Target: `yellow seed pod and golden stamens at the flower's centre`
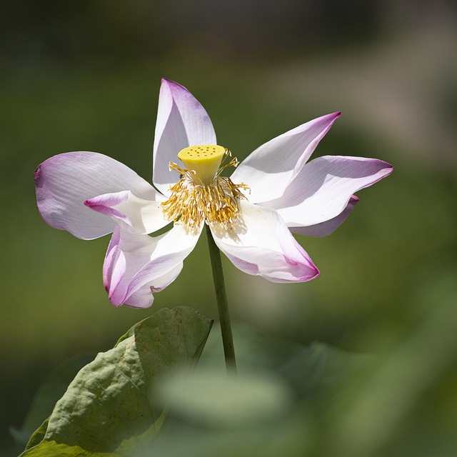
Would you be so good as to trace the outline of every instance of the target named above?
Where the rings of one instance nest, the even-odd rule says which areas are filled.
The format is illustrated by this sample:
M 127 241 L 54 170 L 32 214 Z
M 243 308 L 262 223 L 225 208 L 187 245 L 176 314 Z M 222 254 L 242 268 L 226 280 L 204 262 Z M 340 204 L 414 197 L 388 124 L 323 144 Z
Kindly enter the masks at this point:
M 171 186 L 170 198 L 161 203 L 167 219 L 196 233 L 203 221 L 216 224 L 218 229 L 229 229 L 240 217 L 238 201 L 246 197 L 246 184 L 233 184 L 230 178 L 220 176 L 228 166 L 238 166 L 236 158 L 224 164 L 231 153 L 222 146 L 190 146 L 179 152 L 185 169 L 170 162 L 170 169 L 181 179 Z

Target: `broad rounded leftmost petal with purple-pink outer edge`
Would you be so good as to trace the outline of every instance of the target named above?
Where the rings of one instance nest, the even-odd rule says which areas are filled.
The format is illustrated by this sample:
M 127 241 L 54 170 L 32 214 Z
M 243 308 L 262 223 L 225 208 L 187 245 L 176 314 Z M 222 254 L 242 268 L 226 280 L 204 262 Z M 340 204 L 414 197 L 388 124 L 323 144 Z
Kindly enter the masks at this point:
M 156 200 L 157 193 L 128 166 L 96 152 L 67 152 L 44 161 L 35 171 L 36 201 L 43 219 L 82 239 L 113 231 L 115 221 L 91 211 L 84 201 L 129 189 Z

